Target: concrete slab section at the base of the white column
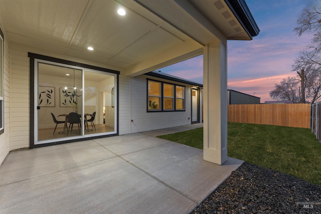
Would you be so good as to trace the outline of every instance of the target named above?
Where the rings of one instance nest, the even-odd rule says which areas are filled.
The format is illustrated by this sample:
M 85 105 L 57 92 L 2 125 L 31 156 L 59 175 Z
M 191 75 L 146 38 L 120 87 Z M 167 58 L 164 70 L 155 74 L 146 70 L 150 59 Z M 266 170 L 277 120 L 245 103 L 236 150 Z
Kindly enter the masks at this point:
M 220 166 L 203 160 L 201 149 L 179 143 L 164 144 L 122 157 L 197 203 L 243 163 L 229 158 Z

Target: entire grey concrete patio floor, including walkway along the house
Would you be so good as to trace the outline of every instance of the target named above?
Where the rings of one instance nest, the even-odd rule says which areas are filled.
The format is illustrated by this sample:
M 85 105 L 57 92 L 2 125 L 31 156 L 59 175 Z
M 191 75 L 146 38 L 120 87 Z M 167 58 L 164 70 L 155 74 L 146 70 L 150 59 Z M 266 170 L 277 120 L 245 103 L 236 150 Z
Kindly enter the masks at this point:
M 0 166 L 0 212 L 188 213 L 243 162 L 204 161 L 201 149 L 154 135 L 12 151 Z

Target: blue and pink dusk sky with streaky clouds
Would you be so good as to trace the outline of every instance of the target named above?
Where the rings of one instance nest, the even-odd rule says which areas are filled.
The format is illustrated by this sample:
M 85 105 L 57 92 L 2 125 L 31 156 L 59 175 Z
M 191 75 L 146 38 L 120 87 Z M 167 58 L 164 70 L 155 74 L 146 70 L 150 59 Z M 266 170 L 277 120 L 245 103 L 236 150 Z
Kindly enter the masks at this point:
M 269 91 L 287 76 L 294 76 L 294 59 L 310 43 L 297 36 L 297 17 L 312 0 L 245 0 L 260 29 L 251 41 L 228 41 L 228 89 L 270 101 Z M 203 55 L 159 69 L 203 83 Z

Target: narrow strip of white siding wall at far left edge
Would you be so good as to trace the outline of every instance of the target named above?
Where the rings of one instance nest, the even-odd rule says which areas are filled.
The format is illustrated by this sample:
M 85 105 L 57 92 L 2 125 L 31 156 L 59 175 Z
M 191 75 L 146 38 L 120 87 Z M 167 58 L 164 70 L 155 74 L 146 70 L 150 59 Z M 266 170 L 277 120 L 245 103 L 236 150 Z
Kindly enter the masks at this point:
M 9 123 L 9 117 L 10 117 L 10 62 L 9 62 L 9 43 L 7 40 L 7 37 L 5 35 L 5 41 L 4 41 L 4 67 L 5 67 L 5 91 L 4 91 L 4 133 L 0 135 L 0 164 L 4 161 L 7 154 L 10 151 L 10 123 Z

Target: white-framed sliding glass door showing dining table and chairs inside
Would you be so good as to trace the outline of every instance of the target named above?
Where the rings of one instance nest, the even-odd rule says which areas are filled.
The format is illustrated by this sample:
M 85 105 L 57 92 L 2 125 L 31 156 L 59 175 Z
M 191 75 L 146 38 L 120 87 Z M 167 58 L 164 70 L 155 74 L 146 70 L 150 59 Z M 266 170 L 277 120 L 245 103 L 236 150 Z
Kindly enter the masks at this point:
M 36 60 L 35 145 L 117 133 L 116 78 Z

